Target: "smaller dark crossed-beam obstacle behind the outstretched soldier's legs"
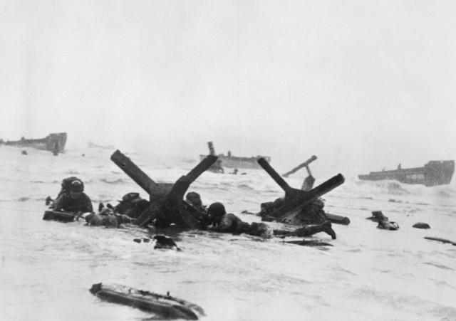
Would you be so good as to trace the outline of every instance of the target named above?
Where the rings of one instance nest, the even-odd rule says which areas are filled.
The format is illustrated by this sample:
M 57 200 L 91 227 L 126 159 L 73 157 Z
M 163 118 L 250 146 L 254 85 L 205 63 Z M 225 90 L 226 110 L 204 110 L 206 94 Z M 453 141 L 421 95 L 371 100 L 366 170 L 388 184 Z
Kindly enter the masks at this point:
M 283 204 L 278 208 L 269 213 L 269 216 L 274 217 L 276 221 L 287 222 L 293 221 L 294 217 L 301 214 L 301 210 L 304 209 L 306 204 L 311 201 L 315 201 L 318 197 L 332 191 L 337 186 L 340 186 L 345 181 L 342 174 L 337 174 L 335 177 L 328 179 L 323 184 L 316 186 L 310 191 L 302 191 L 300 189 L 294 189 L 286 183 L 284 179 L 271 167 L 266 159 L 258 159 L 258 164 L 269 174 L 269 176 L 276 181 L 277 184 L 285 191 L 285 197 Z M 289 174 L 289 173 L 287 173 Z

